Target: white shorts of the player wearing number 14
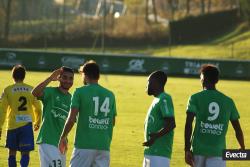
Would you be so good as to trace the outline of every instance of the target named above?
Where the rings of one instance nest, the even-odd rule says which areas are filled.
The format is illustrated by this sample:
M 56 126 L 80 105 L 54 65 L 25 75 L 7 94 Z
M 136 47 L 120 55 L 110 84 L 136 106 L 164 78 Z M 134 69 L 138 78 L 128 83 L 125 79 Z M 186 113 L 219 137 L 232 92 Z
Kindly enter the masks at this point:
M 74 148 L 70 167 L 109 167 L 109 163 L 109 151 Z

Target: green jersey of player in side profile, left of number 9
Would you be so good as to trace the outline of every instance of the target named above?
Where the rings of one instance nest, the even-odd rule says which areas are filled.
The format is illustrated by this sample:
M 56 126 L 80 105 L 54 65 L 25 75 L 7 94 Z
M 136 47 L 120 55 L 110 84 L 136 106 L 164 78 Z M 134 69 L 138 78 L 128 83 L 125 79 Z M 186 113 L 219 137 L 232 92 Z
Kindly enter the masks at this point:
M 163 92 L 154 98 L 145 120 L 145 140 L 150 139 L 149 134 L 158 132 L 164 127 L 164 118 L 174 117 L 174 106 L 172 98 Z M 171 158 L 174 131 L 155 140 L 154 144 L 146 147 L 145 155 L 155 155 Z

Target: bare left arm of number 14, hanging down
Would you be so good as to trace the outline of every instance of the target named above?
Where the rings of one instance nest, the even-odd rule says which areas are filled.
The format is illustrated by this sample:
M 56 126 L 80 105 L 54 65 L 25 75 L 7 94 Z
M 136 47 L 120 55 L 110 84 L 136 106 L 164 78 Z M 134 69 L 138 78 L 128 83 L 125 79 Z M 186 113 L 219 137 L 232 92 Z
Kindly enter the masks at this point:
M 69 113 L 68 119 L 66 120 L 62 135 L 60 137 L 59 145 L 58 145 L 59 150 L 62 154 L 65 154 L 67 150 L 67 136 L 69 132 L 71 131 L 71 129 L 73 128 L 74 123 L 76 122 L 76 117 L 77 117 L 78 112 L 79 112 L 78 109 L 72 108 Z

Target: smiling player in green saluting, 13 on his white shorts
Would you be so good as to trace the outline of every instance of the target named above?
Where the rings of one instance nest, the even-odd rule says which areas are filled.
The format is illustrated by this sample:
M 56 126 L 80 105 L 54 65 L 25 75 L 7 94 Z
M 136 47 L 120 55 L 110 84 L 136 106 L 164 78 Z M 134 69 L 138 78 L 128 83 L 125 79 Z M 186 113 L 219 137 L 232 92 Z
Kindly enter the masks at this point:
M 41 167 L 65 167 L 66 157 L 58 150 L 58 142 L 71 104 L 69 89 L 73 85 L 74 71 L 68 67 L 55 70 L 32 91 L 43 103 L 42 125 L 38 134 Z M 47 87 L 59 81 L 58 87 Z

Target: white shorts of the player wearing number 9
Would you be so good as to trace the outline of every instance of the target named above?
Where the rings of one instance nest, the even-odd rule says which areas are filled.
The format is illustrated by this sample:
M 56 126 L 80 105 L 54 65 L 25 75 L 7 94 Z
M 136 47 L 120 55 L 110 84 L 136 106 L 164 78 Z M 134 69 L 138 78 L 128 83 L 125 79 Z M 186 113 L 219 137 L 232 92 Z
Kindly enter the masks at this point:
M 226 161 L 221 157 L 205 157 L 200 155 L 194 156 L 195 167 L 226 167 Z

